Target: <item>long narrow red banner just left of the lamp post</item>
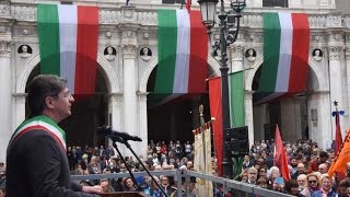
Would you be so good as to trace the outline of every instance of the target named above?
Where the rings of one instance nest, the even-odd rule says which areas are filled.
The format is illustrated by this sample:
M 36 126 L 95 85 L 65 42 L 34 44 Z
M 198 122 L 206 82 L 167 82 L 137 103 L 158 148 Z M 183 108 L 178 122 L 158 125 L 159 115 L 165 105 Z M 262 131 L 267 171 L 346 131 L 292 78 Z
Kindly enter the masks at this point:
M 214 136 L 214 151 L 218 160 L 218 175 L 222 176 L 222 108 L 221 108 L 221 80 L 213 78 L 209 80 L 210 116 L 215 120 L 212 123 Z

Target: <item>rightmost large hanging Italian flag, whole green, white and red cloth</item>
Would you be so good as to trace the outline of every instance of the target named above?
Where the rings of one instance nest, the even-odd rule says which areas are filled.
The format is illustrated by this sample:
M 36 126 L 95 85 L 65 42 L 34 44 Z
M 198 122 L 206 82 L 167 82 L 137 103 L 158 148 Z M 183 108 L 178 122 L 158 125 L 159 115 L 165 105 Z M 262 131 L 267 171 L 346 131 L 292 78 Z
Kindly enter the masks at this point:
M 264 66 L 258 103 L 306 90 L 310 27 L 305 13 L 262 13 Z

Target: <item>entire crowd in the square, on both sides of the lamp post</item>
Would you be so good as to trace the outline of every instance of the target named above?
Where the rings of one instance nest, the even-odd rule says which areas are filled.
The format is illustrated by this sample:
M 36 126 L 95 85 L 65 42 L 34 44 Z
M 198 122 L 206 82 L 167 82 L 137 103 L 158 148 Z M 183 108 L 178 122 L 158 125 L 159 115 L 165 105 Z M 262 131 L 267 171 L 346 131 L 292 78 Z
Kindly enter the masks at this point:
M 330 177 L 327 172 L 334 161 L 332 149 L 327 151 L 318 148 L 312 140 L 299 140 L 296 143 L 284 143 L 291 179 L 283 178 L 280 170 L 273 166 L 273 140 L 256 141 L 249 154 L 242 162 L 242 173 L 236 181 L 254 184 L 262 188 L 302 197 L 350 196 L 350 163 L 345 177 Z M 67 157 L 70 170 L 75 175 L 128 173 L 127 166 L 133 171 L 144 171 L 143 166 L 132 157 L 125 157 L 126 163 L 116 155 L 114 148 L 68 147 Z M 194 170 L 194 148 L 189 141 L 153 142 L 148 144 L 147 158 L 140 157 L 150 171 Z M 3 163 L 0 163 L 0 170 Z M 0 171 L 4 174 L 3 171 Z M 173 176 L 154 176 L 167 195 L 176 193 L 176 179 Z M 135 184 L 137 182 L 137 184 Z M 183 181 L 184 183 L 184 181 Z M 190 190 L 195 196 L 196 178 L 190 178 Z M 104 193 L 141 190 L 151 196 L 162 196 L 161 189 L 150 177 L 137 176 L 136 179 L 102 178 L 79 181 L 81 185 L 101 187 Z M 215 187 L 214 187 L 215 188 Z M 221 193 L 214 193 L 222 196 Z M 219 195 L 220 194 L 220 195 Z

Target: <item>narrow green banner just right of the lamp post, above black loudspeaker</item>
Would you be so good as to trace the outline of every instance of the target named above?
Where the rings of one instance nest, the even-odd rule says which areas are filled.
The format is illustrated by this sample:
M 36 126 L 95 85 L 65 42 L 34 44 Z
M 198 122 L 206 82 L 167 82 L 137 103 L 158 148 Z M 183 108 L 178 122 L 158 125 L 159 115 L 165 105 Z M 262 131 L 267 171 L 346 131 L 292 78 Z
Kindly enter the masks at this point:
M 231 127 L 245 126 L 244 103 L 244 73 L 242 71 L 229 74 L 230 102 L 231 102 Z

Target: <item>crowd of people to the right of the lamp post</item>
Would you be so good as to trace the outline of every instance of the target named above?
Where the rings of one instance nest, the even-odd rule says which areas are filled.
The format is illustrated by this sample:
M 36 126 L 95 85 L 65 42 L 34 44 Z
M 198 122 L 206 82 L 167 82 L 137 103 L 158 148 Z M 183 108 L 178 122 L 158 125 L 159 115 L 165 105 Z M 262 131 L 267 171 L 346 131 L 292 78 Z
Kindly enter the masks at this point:
M 262 188 L 302 197 L 350 196 L 350 163 L 343 177 L 327 172 L 334 162 L 334 149 L 318 148 L 312 140 L 284 143 L 290 179 L 273 166 L 273 140 L 256 141 L 244 157 L 242 173 L 235 178 Z

